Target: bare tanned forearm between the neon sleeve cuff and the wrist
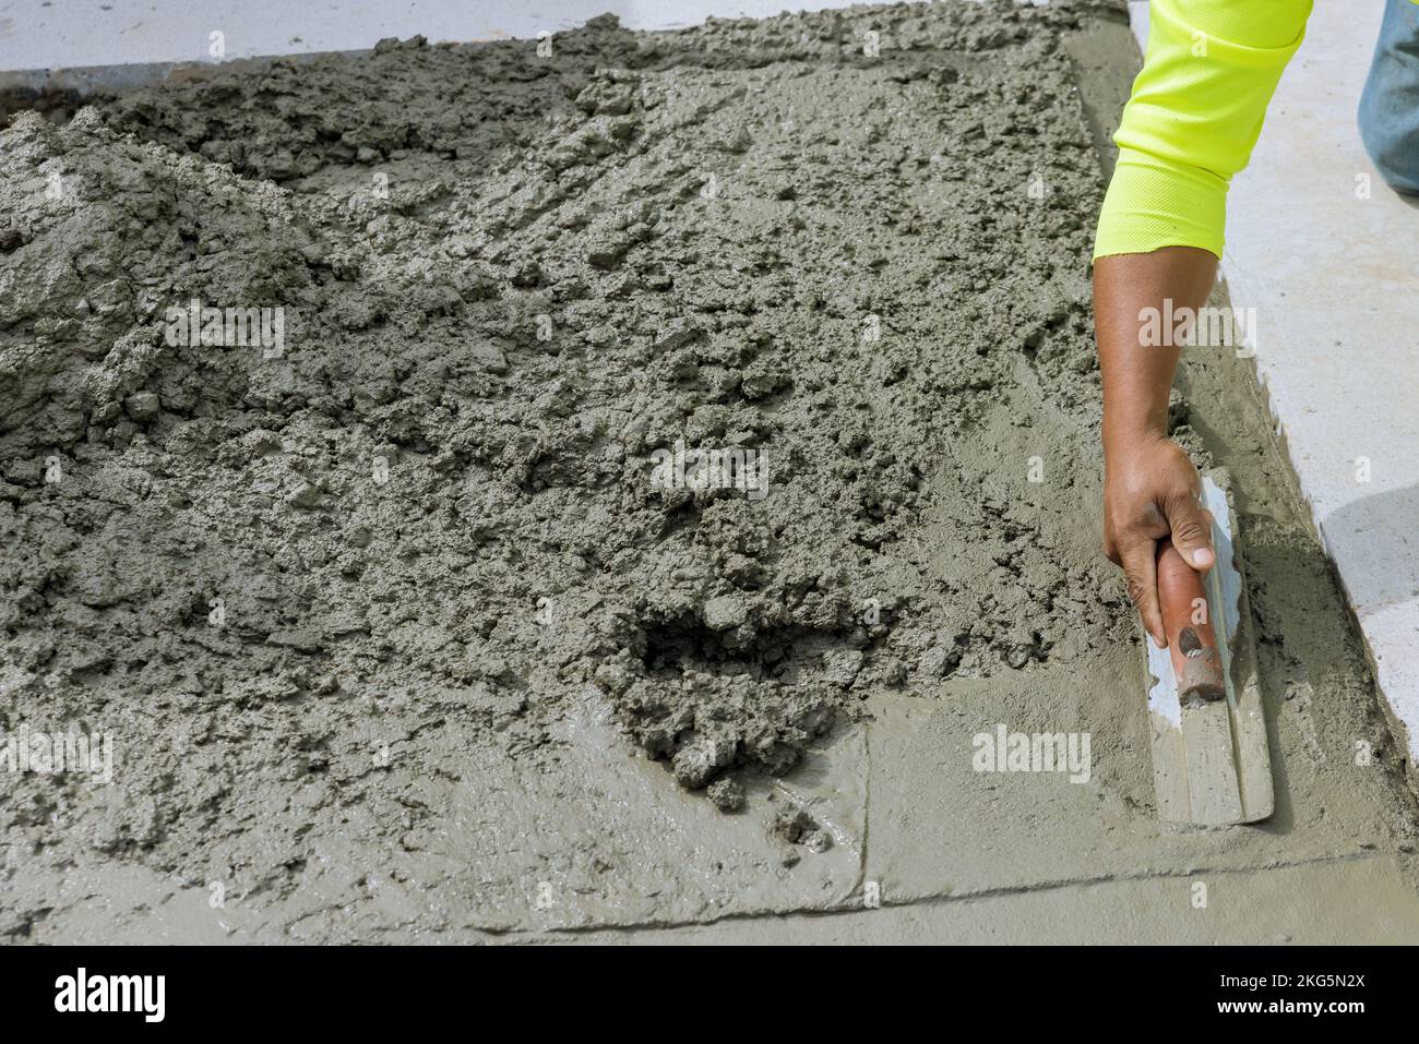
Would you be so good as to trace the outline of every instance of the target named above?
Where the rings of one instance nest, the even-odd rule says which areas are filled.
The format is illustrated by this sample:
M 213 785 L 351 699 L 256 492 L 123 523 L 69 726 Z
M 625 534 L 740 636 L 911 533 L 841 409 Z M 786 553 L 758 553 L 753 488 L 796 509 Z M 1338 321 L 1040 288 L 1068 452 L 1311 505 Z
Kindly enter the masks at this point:
M 1196 247 L 1118 254 L 1094 264 L 1094 329 L 1104 382 L 1104 457 L 1115 458 L 1168 434 L 1168 390 L 1182 345 L 1161 328 L 1142 336 L 1145 316 L 1159 319 L 1202 308 L 1216 278 L 1216 258 Z M 1155 309 L 1149 313 L 1148 309 Z

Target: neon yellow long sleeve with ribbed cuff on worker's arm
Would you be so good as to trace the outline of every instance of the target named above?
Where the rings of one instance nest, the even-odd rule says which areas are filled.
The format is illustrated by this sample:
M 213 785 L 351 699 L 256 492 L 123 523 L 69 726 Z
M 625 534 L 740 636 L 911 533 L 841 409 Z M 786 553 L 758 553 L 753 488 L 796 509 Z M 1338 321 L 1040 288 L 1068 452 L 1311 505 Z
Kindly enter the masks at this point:
M 1247 165 L 1311 0 L 1152 0 L 1148 52 L 1114 135 L 1094 257 L 1222 257 L 1227 182 Z

